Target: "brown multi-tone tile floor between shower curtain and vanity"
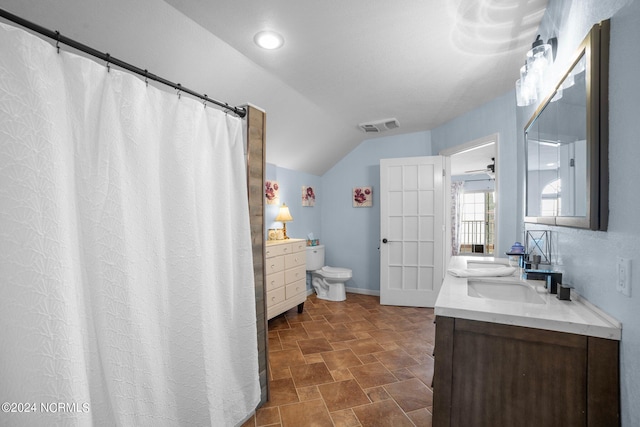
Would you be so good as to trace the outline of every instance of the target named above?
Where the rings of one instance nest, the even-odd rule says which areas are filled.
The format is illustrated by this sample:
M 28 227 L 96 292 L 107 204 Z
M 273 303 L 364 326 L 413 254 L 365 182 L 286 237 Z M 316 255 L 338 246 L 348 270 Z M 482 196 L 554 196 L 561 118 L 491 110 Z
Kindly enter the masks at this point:
M 271 400 L 243 427 L 431 426 L 433 309 L 347 294 L 269 321 Z

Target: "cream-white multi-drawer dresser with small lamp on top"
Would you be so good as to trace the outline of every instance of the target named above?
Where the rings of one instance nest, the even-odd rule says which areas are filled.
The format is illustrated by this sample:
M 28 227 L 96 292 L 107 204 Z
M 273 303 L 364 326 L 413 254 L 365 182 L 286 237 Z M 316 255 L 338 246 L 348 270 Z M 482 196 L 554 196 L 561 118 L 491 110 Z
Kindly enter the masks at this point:
M 307 299 L 307 242 L 304 239 L 269 240 L 265 246 L 267 319 Z

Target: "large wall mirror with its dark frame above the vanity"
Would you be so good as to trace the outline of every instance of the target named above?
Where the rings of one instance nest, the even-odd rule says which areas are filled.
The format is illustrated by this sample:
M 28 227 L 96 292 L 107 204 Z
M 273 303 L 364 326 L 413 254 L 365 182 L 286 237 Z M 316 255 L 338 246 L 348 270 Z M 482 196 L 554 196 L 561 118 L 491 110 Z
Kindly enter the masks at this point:
M 526 222 L 606 230 L 609 21 L 525 127 Z

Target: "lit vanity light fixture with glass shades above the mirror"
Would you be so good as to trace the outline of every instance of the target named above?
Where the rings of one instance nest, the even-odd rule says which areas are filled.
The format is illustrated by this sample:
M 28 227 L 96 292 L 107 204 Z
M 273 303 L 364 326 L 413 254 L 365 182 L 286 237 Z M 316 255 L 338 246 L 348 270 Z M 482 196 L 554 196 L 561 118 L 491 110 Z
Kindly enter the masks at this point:
M 545 73 L 555 59 L 558 39 L 553 37 L 544 43 L 540 35 L 527 52 L 525 64 L 520 68 L 520 78 L 516 81 L 516 103 L 525 107 L 535 103 L 544 86 Z

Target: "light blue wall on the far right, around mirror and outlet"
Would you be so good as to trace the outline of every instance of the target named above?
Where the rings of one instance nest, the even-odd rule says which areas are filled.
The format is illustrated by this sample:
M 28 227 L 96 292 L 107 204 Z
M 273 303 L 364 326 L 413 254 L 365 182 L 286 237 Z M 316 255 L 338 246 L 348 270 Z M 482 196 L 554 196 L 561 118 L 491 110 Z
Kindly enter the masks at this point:
M 607 232 L 547 228 L 553 233 L 563 280 L 622 322 L 622 425 L 631 427 L 640 426 L 640 1 L 551 1 L 541 33 L 543 39 L 552 33 L 558 36 L 564 48 L 559 49 L 556 64 L 564 69 L 591 26 L 609 17 L 609 228 Z M 520 117 L 519 129 L 525 121 Z M 616 292 L 618 256 L 632 259 L 631 298 Z

